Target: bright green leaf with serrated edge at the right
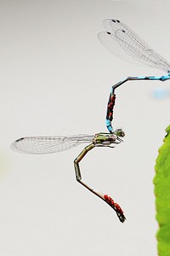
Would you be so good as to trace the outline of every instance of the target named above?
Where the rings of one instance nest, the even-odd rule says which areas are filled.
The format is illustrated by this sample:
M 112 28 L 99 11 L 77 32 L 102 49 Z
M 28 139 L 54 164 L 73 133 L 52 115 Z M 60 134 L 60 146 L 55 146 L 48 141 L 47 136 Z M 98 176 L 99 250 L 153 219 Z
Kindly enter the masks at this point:
M 158 255 L 170 256 L 170 125 L 167 135 L 159 148 L 156 159 L 156 175 L 154 177 L 156 195 L 156 220 Z

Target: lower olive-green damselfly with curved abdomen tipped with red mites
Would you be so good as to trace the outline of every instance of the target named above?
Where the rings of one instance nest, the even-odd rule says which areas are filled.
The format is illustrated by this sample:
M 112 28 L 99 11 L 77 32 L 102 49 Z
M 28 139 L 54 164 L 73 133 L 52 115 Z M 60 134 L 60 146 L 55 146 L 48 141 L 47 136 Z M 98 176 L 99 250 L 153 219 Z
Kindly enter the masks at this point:
M 98 191 L 89 187 L 87 183 L 82 181 L 79 163 L 88 153 L 88 151 L 95 147 L 114 148 L 114 146 L 111 145 L 122 143 L 122 139 L 120 137 L 124 137 L 124 135 L 125 134 L 122 129 L 117 129 L 113 134 L 98 133 L 95 136 L 76 135 L 68 137 L 21 137 L 11 145 L 11 148 L 15 151 L 26 154 L 50 154 L 74 148 L 82 143 L 90 143 L 74 160 L 77 182 L 81 183 L 86 189 L 94 193 L 94 195 L 99 196 L 100 199 L 112 207 L 116 211 L 120 221 L 123 223 L 126 218 L 123 214 L 122 208 L 115 201 L 113 201 L 111 196 L 99 193 Z

